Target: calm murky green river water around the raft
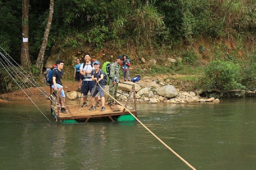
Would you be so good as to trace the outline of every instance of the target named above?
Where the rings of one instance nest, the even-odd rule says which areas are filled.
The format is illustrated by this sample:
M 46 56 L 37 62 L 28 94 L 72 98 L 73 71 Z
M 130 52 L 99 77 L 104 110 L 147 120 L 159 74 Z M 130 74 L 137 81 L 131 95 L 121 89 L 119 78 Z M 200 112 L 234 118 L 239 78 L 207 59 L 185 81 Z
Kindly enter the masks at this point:
M 255 103 L 138 104 L 138 118 L 196 169 L 248 170 Z M 49 123 L 29 101 L 1 103 L 0 115 L 0 169 L 189 169 L 138 122 Z

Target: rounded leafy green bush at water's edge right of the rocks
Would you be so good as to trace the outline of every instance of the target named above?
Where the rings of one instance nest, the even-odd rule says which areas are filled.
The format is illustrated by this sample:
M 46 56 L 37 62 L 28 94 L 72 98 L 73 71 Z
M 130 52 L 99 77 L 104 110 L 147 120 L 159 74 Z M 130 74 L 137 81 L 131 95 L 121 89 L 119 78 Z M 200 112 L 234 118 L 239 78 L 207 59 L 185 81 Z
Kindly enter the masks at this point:
M 205 68 L 205 75 L 199 80 L 200 89 L 228 91 L 245 89 L 241 84 L 240 65 L 230 61 L 216 60 Z

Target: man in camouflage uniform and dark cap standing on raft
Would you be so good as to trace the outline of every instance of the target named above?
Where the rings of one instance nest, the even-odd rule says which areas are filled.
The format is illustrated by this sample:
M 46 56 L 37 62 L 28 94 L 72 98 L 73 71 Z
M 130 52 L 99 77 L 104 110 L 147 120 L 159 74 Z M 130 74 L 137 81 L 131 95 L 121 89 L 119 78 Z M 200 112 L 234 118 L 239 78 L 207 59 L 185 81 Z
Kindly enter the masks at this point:
M 119 83 L 119 73 L 120 73 L 120 63 L 124 60 L 123 56 L 117 56 L 116 62 L 111 64 L 109 73 L 109 94 L 116 99 L 118 83 Z M 114 99 L 108 97 L 108 105 L 112 105 Z

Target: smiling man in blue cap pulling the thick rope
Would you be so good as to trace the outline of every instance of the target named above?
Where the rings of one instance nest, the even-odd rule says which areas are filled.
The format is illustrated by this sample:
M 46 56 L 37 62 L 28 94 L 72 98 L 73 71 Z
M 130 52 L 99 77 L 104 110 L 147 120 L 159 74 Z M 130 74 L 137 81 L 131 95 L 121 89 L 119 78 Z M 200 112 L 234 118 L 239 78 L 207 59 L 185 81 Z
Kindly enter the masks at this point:
M 101 70 L 100 67 L 100 63 L 98 61 L 95 61 L 93 63 L 93 67 L 95 68 L 95 70 L 92 70 L 92 81 L 98 81 L 95 82 L 95 85 L 93 86 L 92 92 L 90 94 L 90 96 L 95 97 L 95 95 L 99 92 L 100 93 L 100 97 L 101 97 L 101 102 L 102 102 L 102 107 L 100 111 L 105 111 L 105 97 L 104 97 L 104 92 L 103 90 L 100 88 L 100 86 L 104 89 L 105 88 L 105 82 L 103 80 L 104 77 L 104 72 L 103 70 Z M 100 85 L 99 85 L 100 84 Z M 94 100 L 91 100 L 92 102 L 92 107 L 89 110 L 95 110 L 96 107 L 94 106 Z

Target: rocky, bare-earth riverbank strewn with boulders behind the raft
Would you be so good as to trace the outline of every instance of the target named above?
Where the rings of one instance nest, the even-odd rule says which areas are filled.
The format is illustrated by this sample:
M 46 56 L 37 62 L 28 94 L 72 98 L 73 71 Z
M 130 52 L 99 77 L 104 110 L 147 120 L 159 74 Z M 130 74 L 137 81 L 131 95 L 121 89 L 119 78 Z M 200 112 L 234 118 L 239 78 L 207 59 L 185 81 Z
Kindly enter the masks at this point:
M 171 76 L 173 78 L 171 78 Z M 177 77 L 184 77 L 184 75 L 165 75 L 154 77 L 142 77 L 140 81 L 136 83 L 126 82 L 135 85 L 136 101 L 142 103 L 197 103 L 197 102 L 211 102 L 219 103 L 219 99 L 204 98 L 199 95 L 198 92 L 187 91 L 188 85 L 186 82 L 175 79 Z M 122 81 L 122 80 L 121 80 Z M 179 84 L 180 86 L 176 86 Z M 63 81 L 64 91 L 66 93 L 66 100 L 79 100 L 83 98 L 80 92 L 77 92 L 77 84 L 75 81 Z M 45 86 L 40 88 L 41 91 L 50 93 L 50 87 Z M 24 91 L 32 98 L 45 98 L 44 94 L 39 89 L 33 87 L 24 89 Z M 108 92 L 108 86 L 105 86 L 105 90 Z M 130 85 L 119 83 L 117 100 L 126 101 L 127 96 L 131 90 Z M 105 98 L 107 98 L 105 94 Z M 27 95 L 18 90 L 12 93 L 0 94 L 0 98 L 4 100 L 28 100 Z M 134 99 L 131 99 L 133 101 Z M 3 102 L 0 100 L 0 102 Z

